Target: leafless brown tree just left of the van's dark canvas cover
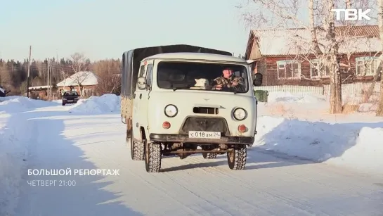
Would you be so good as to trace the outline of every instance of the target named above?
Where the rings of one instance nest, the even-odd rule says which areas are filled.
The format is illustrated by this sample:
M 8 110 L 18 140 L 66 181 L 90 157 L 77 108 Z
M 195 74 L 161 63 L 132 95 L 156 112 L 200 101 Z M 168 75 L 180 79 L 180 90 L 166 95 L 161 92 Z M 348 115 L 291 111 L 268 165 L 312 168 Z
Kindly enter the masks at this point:
M 100 94 L 114 93 L 121 85 L 119 60 L 103 60 L 93 65 L 93 70 L 98 77 L 96 91 Z

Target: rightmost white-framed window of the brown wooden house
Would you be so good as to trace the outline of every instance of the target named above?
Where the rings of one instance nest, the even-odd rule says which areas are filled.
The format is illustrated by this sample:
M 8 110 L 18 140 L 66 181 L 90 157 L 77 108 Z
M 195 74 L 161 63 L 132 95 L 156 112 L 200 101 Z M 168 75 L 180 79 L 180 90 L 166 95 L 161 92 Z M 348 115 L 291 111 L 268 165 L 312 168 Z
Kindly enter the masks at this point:
M 379 57 L 360 57 L 355 58 L 356 75 L 358 76 L 374 76 L 379 68 Z

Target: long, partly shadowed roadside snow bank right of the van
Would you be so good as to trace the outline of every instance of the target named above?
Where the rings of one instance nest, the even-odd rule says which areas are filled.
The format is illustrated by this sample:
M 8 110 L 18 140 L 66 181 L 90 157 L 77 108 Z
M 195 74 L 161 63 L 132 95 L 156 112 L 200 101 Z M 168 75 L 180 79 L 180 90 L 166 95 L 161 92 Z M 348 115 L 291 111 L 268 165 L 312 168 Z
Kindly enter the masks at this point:
M 383 173 L 383 158 L 377 157 L 383 154 L 383 143 L 378 139 L 383 137 L 383 129 L 361 126 L 366 124 L 329 124 L 263 116 L 258 118 L 254 145 L 316 162 L 358 164 L 365 169 L 375 167 Z M 377 126 L 383 127 L 383 123 Z

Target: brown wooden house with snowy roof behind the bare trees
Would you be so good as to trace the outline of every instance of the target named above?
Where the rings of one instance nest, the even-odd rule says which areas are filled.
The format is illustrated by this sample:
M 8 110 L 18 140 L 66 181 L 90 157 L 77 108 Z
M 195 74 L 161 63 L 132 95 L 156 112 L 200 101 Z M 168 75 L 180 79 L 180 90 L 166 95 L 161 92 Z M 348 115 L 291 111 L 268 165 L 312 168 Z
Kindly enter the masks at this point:
M 342 82 L 371 82 L 380 63 L 377 53 L 382 51 L 379 28 L 377 25 L 335 27 L 338 38 L 344 37 L 346 31 L 347 44 L 339 47 Z M 323 38 L 323 35 L 318 37 L 318 42 L 322 43 Z M 320 67 L 316 56 L 306 52 L 310 43 L 310 31 L 304 28 L 252 30 L 245 59 L 255 61 L 252 68 L 254 73 L 264 75 L 263 85 L 330 84 L 329 68 Z

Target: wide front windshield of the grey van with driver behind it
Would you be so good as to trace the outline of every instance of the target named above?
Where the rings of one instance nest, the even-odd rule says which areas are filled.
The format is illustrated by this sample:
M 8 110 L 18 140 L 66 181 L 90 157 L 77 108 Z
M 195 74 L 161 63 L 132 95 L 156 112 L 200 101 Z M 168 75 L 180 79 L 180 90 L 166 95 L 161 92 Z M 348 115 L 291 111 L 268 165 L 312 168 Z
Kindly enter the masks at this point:
M 231 91 L 249 89 L 244 65 L 162 61 L 157 65 L 157 85 L 161 89 Z

